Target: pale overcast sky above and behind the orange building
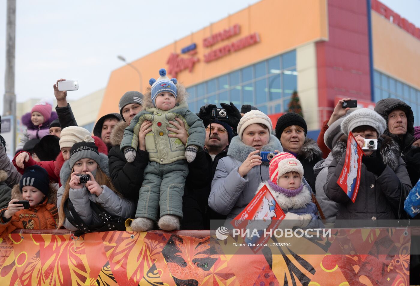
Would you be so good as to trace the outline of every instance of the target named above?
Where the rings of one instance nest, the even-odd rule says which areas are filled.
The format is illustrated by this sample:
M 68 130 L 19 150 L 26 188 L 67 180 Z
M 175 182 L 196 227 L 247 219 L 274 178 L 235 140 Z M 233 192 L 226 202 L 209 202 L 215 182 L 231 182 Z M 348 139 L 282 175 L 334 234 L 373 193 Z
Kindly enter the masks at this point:
M 53 99 L 58 78 L 79 81 L 79 91 L 69 93 L 73 99 L 105 88 L 111 71 L 124 65 L 117 55 L 134 61 L 258 0 L 16 2 L 15 93 L 22 102 Z M 382 2 L 420 27 L 420 0 Z M 6 3 L 0 0 L 1 114 Z

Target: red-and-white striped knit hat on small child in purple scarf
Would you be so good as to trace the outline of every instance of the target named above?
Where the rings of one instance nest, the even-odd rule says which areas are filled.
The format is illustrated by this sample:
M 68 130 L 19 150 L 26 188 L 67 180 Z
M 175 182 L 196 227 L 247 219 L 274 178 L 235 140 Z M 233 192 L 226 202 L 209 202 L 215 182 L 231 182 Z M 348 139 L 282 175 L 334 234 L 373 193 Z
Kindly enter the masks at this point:
M 274 184 L 278 185 L 278 179 L 283 174 L 289 172 L 297 172 L 300 174 L 301 182 L 303 180 L 303 166 L 290 153 L 281 152 L 278 153 L 274 158 L 270 161 L 270 166 L 268 167 L 268 173 L 270 175 L 270 181 Z

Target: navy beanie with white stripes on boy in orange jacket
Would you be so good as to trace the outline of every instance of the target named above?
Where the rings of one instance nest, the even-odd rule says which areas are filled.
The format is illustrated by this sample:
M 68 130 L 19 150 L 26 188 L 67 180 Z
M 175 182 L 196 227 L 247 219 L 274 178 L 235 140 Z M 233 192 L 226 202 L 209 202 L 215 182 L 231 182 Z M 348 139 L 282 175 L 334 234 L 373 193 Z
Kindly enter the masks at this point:
M 36 187 L 44 195 L 48 195 L 50 191 L 50 179 L 48 178 L 47 170 L 38 165 L 29 166 L 25 169 L 21 181 L 19 182 L 19 189 L 25 186 Z

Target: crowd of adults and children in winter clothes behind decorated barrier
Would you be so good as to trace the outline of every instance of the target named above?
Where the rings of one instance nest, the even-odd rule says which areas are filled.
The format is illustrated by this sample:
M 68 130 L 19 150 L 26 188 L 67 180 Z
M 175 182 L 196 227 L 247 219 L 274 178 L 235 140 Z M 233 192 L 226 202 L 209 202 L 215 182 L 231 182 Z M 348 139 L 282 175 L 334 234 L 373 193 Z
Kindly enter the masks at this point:
M 263 184 L 292 227 L 409 218 L 404 201 L 420 177 L 420 127 L 399 99 L 382 99 L 375 110 L 349 110 L 342 107 L 349 99 L 340 100 L 315 142 L 292 112 L 275 130 L 246 105 L 221 103 L 227 117 L 211 104 L 194 114 L 185 87 L 161 69 L 144 95 L 123 94 L 119 113 L 102 116 L 92 136 L 77 125 L 59 81 L 56 112 L 39 102 L 22 117 L 27 129 L 12 161 L 0 144 L 0 236 L 125 230 L 130 222 L 134 231 L 210 229 L 210 220 L 235 218 Z M 354 203 L 337 184 L 349 132 L 360 146 L 378 140 L 362 157 Z M 265 161 L 262 151 L 276 155 Z

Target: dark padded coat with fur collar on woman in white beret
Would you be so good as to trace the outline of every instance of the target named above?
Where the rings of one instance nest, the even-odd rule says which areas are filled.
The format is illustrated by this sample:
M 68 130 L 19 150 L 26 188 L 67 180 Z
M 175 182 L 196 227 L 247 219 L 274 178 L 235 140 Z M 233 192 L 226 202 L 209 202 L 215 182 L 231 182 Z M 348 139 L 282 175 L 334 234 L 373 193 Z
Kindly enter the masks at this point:
M 337 184 L 343 169 L 347 147 L 347 136 L 343 135 L 333 147 L 333 160 L 328 166 L 327 184 L 324 186 L 328 198 L 339 203 L 336 219 L 396 219 L 402 214 L 404 202 L 411 190 L 410 178 L 405 163 L 400 157 L 398 145 L 392 138 L 381 135 L 381 156 L 386 168 L 380 176 L 367 171 L 362 164 L 360 187 L 354 203 Z M 404 203 L 402 203 L 404 205 Z

